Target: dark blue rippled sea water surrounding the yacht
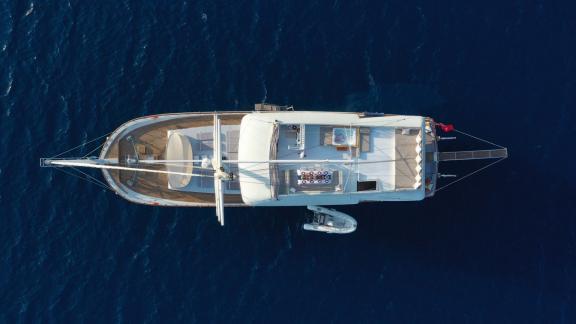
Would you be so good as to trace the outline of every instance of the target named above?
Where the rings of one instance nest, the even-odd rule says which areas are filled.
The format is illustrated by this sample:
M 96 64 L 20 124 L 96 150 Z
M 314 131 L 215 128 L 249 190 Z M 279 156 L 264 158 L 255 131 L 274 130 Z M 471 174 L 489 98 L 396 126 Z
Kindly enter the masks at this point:
M 1 1 L 0 323 L 576 322 L 575 13 Z M 137 116 L 261 101 L 430 115 L 511 158 L 423 202 L 343 207 L 341 237 L 302 231 L 302 208 L 221 228 L 38 167 Z

